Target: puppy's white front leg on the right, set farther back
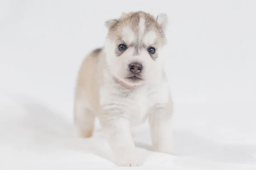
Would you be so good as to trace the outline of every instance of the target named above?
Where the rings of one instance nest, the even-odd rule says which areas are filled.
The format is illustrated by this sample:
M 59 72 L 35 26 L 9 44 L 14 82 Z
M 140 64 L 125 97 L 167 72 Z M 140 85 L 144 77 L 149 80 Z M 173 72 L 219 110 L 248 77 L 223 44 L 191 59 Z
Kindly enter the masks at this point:
M 153 150 L 173 153 L 172 148 L 172 105 L 157 105 L 149 115 Z

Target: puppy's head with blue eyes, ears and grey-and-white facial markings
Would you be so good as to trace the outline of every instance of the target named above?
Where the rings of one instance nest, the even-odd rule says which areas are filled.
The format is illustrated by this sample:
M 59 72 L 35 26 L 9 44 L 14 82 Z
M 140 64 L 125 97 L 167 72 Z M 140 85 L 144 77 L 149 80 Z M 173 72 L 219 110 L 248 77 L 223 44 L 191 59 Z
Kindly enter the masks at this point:
M 144 12 L 123 14 L 120 19 L 107 21 L 105 51 L 113 77 L 130 85 L 141 85 L 160 75 L 166 25 L 165 14 L 154 18 Z

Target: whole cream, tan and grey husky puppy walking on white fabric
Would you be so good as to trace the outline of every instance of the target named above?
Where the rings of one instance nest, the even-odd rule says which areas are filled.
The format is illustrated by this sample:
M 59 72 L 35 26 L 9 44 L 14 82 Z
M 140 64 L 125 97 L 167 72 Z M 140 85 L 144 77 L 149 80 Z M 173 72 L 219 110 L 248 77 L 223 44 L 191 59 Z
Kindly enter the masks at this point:
M 172 99 L 163 61 L 166 14 L 123 13 L 108 20 L 102 48 L 78 73 L 74 117 L 80 136 L 92 136 L 96 116 L 118 166 L 140 166 L 131 128 L 148 118 L 153 150 L 172 153 Z

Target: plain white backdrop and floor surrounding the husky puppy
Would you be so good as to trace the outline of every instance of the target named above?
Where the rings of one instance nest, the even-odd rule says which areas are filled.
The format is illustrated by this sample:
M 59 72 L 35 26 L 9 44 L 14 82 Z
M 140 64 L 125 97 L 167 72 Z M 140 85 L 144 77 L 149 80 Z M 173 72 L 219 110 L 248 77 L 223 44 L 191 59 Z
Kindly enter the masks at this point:
M 177 153 L 146 150 L 148 127 L 138 127 L 140 169 L 255 167 L 255 9 L 254 0 L 1 0 L 1 169 L 116 168 L 100 131 L 75 136 L 73 92 L 84 56 L 104 43 L 105 20 L 138 10 L 169 17 Z

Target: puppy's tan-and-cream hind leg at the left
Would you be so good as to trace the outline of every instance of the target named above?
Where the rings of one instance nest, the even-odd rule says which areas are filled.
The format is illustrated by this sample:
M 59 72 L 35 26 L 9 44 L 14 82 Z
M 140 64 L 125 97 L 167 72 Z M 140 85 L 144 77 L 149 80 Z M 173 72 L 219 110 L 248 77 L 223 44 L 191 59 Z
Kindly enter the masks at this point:
M 87 101 L 76 99 L 74 108 L 75 124 L 81 137 L 89 138 L 93 135 L 95 114 L 86 107 Z

